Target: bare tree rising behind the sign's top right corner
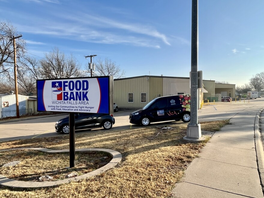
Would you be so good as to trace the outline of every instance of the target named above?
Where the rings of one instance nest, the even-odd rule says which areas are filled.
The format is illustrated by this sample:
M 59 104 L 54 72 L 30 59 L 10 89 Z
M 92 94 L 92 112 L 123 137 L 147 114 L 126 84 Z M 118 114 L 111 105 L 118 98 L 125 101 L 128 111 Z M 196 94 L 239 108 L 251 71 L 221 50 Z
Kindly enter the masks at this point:
M 113 76 L 115 79 L 124 78 L 125 71 L 120 69 L 120 66 L 109 58 L 104 61 L 100 58 L 95 66 L 94 76 Z

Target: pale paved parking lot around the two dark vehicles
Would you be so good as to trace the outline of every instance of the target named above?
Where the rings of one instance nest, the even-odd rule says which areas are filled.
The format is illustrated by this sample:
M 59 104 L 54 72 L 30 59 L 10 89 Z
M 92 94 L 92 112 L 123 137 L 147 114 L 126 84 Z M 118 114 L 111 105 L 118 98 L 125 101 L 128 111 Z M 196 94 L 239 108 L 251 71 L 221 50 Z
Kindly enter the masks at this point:
M 245 100 L 245 103 L 244 100 L 242 100 L 241 103 L 239 103 L 239 101 L 236 103 L 235 101 L 232 101 L 232 103 L 218 102 L 215 104 L 211 103 L 209 105 L 204 104 L 203 108 L 198 110 L 198 121 L 204 122 L 212 120 L 225 120 L 232 118 L 238 113 L 240 113 L 241 116 L 247 116 L 247 109 L 261 105 L 264 106 L 264 98 Z M 126 130 L 141 127 L 140 125 L 132 125 L 129 123 L 130 113 L 131 111 L 121 111 L 114 113 L 116 123 L 110 130 Z M 66 116 L 67 115 L 59 115 L 6 123 L 1 123 L 0 121 L 0 142 L 63 135 L 55 131 L 54 125 L 57 120 Z M 152 123 L 150 126 L 162 126 L 175 123 L 182 123 L 182 121 Z M 104 129 L 97 128 L 92 130 Z M 88 133 L 89 131 L 91 130 L 79 130 L 76 131 L 76 133 Z

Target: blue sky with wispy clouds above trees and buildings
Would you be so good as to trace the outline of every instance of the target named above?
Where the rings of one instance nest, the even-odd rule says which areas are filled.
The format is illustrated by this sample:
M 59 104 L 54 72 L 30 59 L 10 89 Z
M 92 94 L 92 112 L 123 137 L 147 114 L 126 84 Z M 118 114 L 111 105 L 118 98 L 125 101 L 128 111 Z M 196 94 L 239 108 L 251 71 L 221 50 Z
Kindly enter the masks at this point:
M 84 66 L 110 58 L 126 77 L 189 77 L 191 0 L 0 0 L 40 57 L 58 47 Z M 244 85 L 264 71 L 264 1 L 199 0 L 198 70 L 203 79 Z M 33 56 L 33 55 L 32 55 Z M 37 57 L 35 56 L 35 57 Z M 37 57 L 38 58 L 38 57 Z

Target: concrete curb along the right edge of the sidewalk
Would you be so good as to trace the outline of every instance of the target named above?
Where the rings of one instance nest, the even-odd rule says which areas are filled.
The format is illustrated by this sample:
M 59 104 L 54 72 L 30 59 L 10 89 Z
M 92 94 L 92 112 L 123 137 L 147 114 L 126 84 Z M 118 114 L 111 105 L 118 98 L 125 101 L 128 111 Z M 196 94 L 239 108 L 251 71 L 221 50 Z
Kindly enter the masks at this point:
M 256 149 L 256 158 L 259 172 L 260 184 L 262 187 L 262 193 L 264 194 L 264 150 L 262 145 L 261 134 L 259 131 L 259 115 L 264 110 L 264 108 L 260 109 L 255 118 L 254 124 L 254 133 L 255 133 L 255 149 Z

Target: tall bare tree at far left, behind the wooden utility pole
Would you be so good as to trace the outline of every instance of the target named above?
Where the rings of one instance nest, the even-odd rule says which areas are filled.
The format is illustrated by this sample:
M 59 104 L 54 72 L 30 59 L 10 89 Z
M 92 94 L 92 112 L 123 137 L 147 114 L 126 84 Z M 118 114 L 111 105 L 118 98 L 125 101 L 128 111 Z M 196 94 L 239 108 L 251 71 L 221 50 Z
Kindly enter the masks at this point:
M 0 22 L 0 74 L 11 71 L 13 65 L 13 36 L 18 36 L 16 28 L 10 23 Z M 11 40 L 10 40 L 11 39 Z M 22 56 L 26 51 L 26 41 L 22 38 L 16 39 L 17 57 Z

